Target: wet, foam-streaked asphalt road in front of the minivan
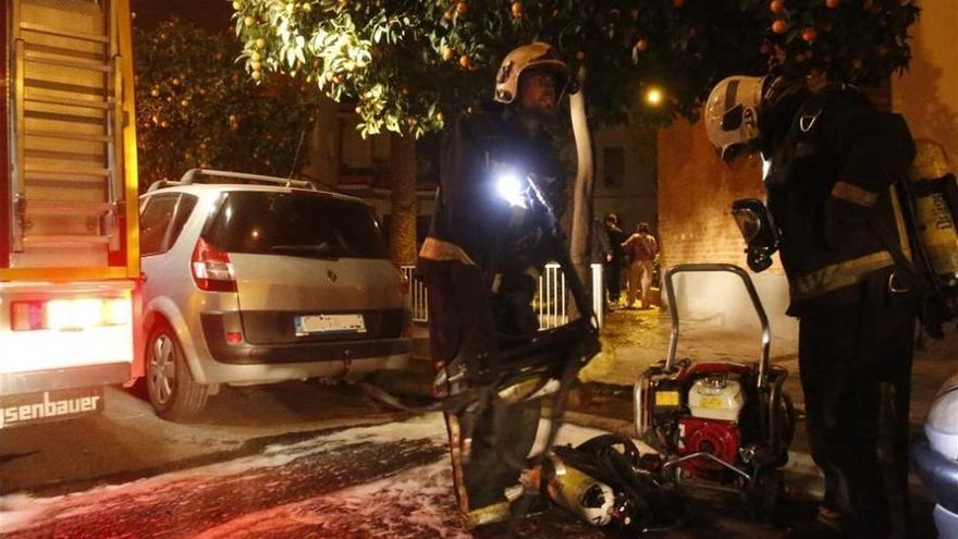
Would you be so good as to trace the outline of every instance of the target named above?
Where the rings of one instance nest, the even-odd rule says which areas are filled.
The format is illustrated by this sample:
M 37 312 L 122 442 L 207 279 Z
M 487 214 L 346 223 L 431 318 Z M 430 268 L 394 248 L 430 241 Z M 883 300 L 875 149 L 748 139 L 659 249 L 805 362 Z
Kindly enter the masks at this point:
M 563 443 L 598 433 L 568 429 Z M 388 411 L 342 385 L 225 391 L 193 425 L 114 390 L 102 416 L 2 431 L 0 488 L 10 538 L 504 537 L 463 529 L 439 414 Z M 700 500 L 693 516 L 650 537 L 781 537 L 734 497 Z M 609 531 L 553 507 L 518 536 Z

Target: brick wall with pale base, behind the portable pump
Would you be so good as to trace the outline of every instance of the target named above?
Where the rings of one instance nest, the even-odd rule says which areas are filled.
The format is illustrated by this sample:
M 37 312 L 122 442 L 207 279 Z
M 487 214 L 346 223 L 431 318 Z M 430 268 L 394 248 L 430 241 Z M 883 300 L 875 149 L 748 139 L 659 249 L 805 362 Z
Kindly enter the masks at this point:
M 725 262 L 746 267 L 741 235 L 732 219 L 737 198 L 764 199 L 761 159 L 722 162 L 702 122 L 676 121 L 658 136 L 659 235 L 662 266 Z M 757 333 L 747 294 L 732 274 L 688 274 L 676 279 L 680 317 L 714 319 L 734 330 Z M 772 334 L 794 340 L 797 324 L 785 316 L 788 285 L 777 260 L 752 275 L 769 315 Z M 773 354 L 775 352 L 773 351 Z

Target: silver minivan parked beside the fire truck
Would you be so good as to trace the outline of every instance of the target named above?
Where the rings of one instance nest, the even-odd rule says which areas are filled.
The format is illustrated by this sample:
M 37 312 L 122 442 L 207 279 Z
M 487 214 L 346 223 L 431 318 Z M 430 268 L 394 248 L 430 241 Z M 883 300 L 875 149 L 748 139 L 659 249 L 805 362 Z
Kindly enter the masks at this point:
M 140 197 L 147 390 L 184 420 L 222 384 L 402 369 L 406 283 L 361 199 L 194 169 Z

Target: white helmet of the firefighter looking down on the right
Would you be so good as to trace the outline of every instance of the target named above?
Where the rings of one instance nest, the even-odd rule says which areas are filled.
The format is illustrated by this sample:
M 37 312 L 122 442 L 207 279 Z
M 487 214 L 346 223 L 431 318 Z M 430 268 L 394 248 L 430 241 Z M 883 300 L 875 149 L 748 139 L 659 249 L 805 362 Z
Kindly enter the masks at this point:
M 729 76 L 709 94 L 705 133 L 723 159 L 758 142 L 764 82 L 760 76 Z

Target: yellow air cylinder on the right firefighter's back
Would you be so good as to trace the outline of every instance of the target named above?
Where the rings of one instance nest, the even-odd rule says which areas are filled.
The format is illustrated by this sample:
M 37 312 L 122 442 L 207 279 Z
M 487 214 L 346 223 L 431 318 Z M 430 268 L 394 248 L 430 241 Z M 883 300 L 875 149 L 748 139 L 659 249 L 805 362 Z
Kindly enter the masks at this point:
M 958 284 L 958 231 L 955 216 L 943 189 L 922 188 L 948 175 L 948 158 L 942 145 L 932 140 L 916 140 L 916 157 L 908 171 L 914 193 L 914 218 L 919 241 L 924 245 L 929 261 L 945 284 Z M 955 182 L 955 176 L 945 179 Z

